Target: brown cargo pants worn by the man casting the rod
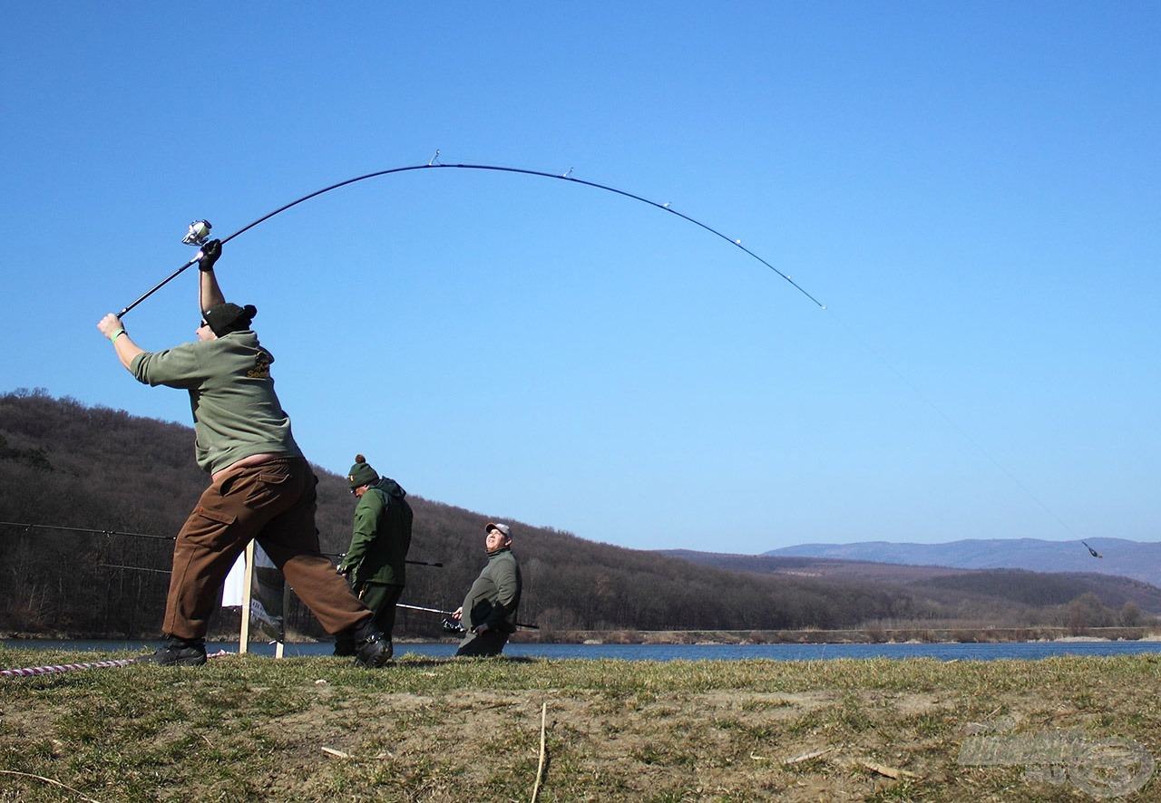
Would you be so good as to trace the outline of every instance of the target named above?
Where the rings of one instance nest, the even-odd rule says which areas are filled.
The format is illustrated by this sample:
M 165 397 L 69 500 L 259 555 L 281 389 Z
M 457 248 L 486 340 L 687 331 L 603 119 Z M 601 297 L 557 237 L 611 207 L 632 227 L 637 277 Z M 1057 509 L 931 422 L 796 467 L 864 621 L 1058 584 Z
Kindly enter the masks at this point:
M 361 623 L 370 610 L 319 551 L 315 527 L 318 479 L 302 457 L 280 457 L 224 475 L 202 493 L 173 548 L 164 632 L 204 638 L 230 567 L 257 538 L 330 634 Z

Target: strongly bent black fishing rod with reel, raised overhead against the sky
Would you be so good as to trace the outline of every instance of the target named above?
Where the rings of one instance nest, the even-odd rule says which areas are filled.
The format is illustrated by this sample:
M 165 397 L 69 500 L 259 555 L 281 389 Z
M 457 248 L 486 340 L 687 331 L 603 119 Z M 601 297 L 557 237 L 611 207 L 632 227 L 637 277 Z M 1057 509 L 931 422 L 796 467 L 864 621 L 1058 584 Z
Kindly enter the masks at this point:
M 574 185 L 582 185 L 584 187 L 592 187 L 593 189 L 600 189 L 600 190 L 604 190 L 604 191 L 607 191 L 607 193 L 614 193 L 614 194 L 620 195 L 622 197 L 630 198 L 633 201 L 639 201 L 641 203 L 648 204 L 648 205 L 654 207 L 656 209 L 659 209 L 659 210 L 662 210 L 664 212 L 670 212 L 671 215 L 677 215 L 683 220 L 692 223 L 693 225 L 699 226 L 699 227 L 704 229 L 705 231 L 708 231 L 711 234 L 720 237 L 721 239 L 726 240 L 730 245 L 733 245 L 733 246 L 735 246 L 737 248 L 741 248 L 743 252 L 745 252 L 747 254 L 749 254 L 753 259 L 758 260 L 764 266 L 766 266 L 767 268 L 770 268 L 771 270 L 773 270 L 776 274 L 778 274 L 779 276 L 781 276 L 784 280 L 786 280 L 787 282 L 789 282 L 789 284 L 795 290 L 798 290 L 803 296 L 806 296 L 812 302 L 814 302 L 814 304 L 816 306 L 819 306 L 822 310 L 827 309 L 827 306 L 822 302 L 820 302 L 817 298 L 815 298 L 809 292 L 807 292 L 805 288 L 802 288 L 800 284 L 798 284 L 798 282 L 795 282 L 793 278 L 791 278 L 788 275 L 786 275 L 785 273 L 783 273 L 781 270 L 779 270 L 778 268 L 776 268 L 773 265 L 771 265 L 770 262 L 767 262 L 765 259 L 763 259 L 762 256 L 759 256 L 758 254 L 756 254 L 755 252 L 750 251 L 744 245 L 742 245 L 742 240 L 727 237 L 726 234 L 723 234 L 722 232 L 720 232 L 717 229 L 714 229 L 713 226 L 709 226 L 709 225 L 702 223 L 701 220 L 698 220 L 698 219 L 695 219 L 695 218 L 693 218 L 693 217 L 691 217 L 691 216 L 688 216 L 688 215 L 686 215 L 684 212 L 679 212 L 678 210 L 673 209 L 670 203 L 658 203 L 656 201 L 650 201 L 649 198 L 646 198 L 646 197 L 643 197 L 641 195 L 637 195 L 635 193 L 629 193 L 629 191 L 623 190 L 623 189 L 618 189 L 616 187 L 611 187 L 608 185 L 603 185 L 603 183 L 599 183 L 597 181 L 587 181 L 585 179 L 577 179 L 576 176 L 572 175 L 572 168 L 571 167 L 568 169 L 567 173 L 564 173 L 564 174 L 557 174 L 557 173 L 547 173 L 545 171 L 526 169 L 526 168 L 522 168 L 522 167 L 506 167 L 506 166 L 503 166 L 503 165 L 470 165 L 470 164 L 469 165 L 445 165 L 442 162 L 437 161 L 438 158 L 439 158 L 439 151 L 435 151 L 435 155 L 432 157 L 432 160 L 428 161 L 426 165 L 408 165 L 405 167 L 391 167 L 391 168 L 388 168 L 385 171 L 375 171 L 374 173 L 367 173 L 365 175 L 356 175 L 353 179 L 347 179 L 345 181 L 340 181 L 338 183 L 331 185 L 330 187 L 324 187 L 323 189 L 315 190 L 313 193 L 309 193 L 307 195 L 303 195 L 301 198 L 296 198 L 296 200 L 291 201 L 288 204 L 279 207 L 277 209 L 275 209 L 272 212 L 267 212 L 266 215 L 261 216 L 257 220 L 253 220 L 252 223 L 247 223 L 246 225 L 244 225 L 241 229 L 239 229 L 238 231 L 233 232 L 232 234 L 223 237 L 219 241 L 223 245 L 225 245 L 226 243 L 229 243 L 233 238 L 238 237 L 239 234 L 243 234 L 243 233 L 250 231 L 251 229 L 253 229 L 254 226 L 259 225 L 260 223 L 265 223 L 266 220 L 269 220 L 275 215 L 280 215 L 281 212 L 284 212 L 286 210 L 291 209 L 293 207 L 297 207 L 300 203 L 304 203 L 305 201 L 310 201 L 311 198 L 316 198 L 319 195 L 325 195 L 326 193 L 330 193 L 331 190 L 334 190 L 334 189 L 339 189 L 340 187 L 347 187 L 348 185 L 358 183 L 360 181 L 366 181 L 368 179 L 377 179 L 380 176 L 391 175 L 394 173 L 408 173 L 408 172 L 412 172 L 412 171 L 438 171 L 438 169 L 490 171 L 490 172 L 493 172 L 493 173 L 507 173 L 507 174 L 517 174 L 517 175 L 531 175 L 531 176 L 538 176 L 538 178 L 542 178 L 542 179 L 556 179 L 557 181 L 567 181 L 567 182 L 570 182 L 570 183 L 574 183 Z M 189 231 L 186 233 L 186 236 L 182 238 L 181 241 L 185 243 L 186 245 L 195 245 L 195 246 L 197 246 L 199 247 L 197 254 L 192 260 L 189 260 L 188 262 L 186 262 L 185 265 L 182 265 L 181 267 L 179 267 L 176 270 L 174 270 L 173 273 L 171 273 L 168 276 L 166 276 L 165 278 L 163 278 L 160 282 L 158 282 L 157 284 L 154 284 L 147 292 L 145 292 L 143 296 L 140 296 L 139 298 L 137 298 L 137 301 L 135 301 L 134 303 L 129 304 L 123 310 L 121 310 L 121 312 L 117 313 L 117 318 L 123 317 L 127 312 L 129 312 L 130 310 L 132 310 L 135 306 L 137 306 L 138 304 L 140 304 L 143 301 L 145 301 L 150 296 L 152 296 L 154 292 L 157 292 L 158 290 L 160 290 L 163 287 L 165 287 L 166 284 L 168 284 L 174 278 L 176 278 L 183 270 L 186 270 L 186 268 L 188 268 L 188 267 L 190 267 L 193 265 L 197 265 L 197 262 L 200 262 L 201 259 L 202 259 L 202 256 L 204 255 L 203 252 L 201 251 L 201 247 L 204 246 L 210 240 L 210 229 L 211 227 L 212 226 L 210 225 L 210 223 L 208 220 L 194 220 L 193 223 L 190 223 L 189 224 Z

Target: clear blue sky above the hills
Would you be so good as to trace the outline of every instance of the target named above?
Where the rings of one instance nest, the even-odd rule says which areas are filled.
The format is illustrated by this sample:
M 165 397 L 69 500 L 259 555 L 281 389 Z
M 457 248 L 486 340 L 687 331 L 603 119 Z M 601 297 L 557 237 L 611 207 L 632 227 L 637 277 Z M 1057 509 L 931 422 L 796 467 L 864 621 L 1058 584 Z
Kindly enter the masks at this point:
M 0 390 L 230 243 L 308 457 L 632 548 L 1158 537 L 1154 2 L 7 3 Z M 125 316 L 193 339 L 189 270 Z M 190 446 L 190 460 L 193 447 Z M 115 471 L 116 466 L 109 466 Z M 93 522 L 101 526 L 101 522 Z

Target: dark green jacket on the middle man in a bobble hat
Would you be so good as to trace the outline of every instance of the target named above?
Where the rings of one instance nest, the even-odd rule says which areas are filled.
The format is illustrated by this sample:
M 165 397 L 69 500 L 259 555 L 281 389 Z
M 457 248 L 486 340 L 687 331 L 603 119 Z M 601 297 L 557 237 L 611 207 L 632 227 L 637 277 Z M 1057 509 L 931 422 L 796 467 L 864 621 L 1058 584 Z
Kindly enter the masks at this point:
M 349 572 L 353 588 L 366 583 L 406 585 L 412 520 L 406 495 L 398 483 L 383 477 L 355 505 L 351 547 L 339 564 L 340 571 Z

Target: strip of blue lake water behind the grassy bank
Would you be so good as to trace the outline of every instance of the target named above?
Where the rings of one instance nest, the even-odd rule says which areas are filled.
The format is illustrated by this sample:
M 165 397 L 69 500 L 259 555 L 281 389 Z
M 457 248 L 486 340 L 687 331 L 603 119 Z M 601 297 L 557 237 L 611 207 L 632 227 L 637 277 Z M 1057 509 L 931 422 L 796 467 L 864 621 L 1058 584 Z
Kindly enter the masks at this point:
M 75 650 L 78 652 L 146 652 L 159 641 L 38 641 L 6 639 L 10 649 Z M 237 652 L 237 642 L 209 643 L 210 652 L 223 649 Z M 427 658 L 449 658 L 456 644 L 396 643 L 395 654 L 408 653 Z M 330 644 L 287 644 L 284 654 L 329 656 Z M 251 644 L 250 651 L 274 654 L 274 646 Z M 612 658 L 619 660 L 828 660 L 834 658 L 933 658 L 936 660 L 1034 660 L 1052 656 L 1125 656 L 1161 653 L 1161 642 L 1012 642 L 998 644 L 509 644 L 505 656 L 564 659 Z M 86 660 L 78 656 L 75 663 Z M 3 668 L 3 667 L 0 667 Z

